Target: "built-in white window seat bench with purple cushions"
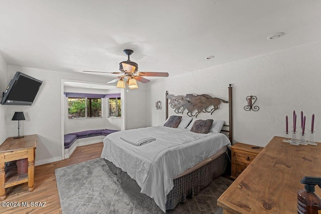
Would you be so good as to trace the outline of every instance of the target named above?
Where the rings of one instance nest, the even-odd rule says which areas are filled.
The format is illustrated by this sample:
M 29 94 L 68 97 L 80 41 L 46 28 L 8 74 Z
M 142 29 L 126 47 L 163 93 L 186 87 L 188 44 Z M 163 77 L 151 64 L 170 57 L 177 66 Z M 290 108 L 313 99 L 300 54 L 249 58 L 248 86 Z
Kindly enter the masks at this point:
M 84 145 L 102 142 L 105 136 L 116 131 L 118 130 L 96 129 L 96 130 L 87 130 L 87 131 L 80 131 L 80 132 L 65 134 L 64 136 L 65 158 L 69 158 L 70 155 L 73 153 L 73 151 L 77 148 L 77 146 L 84 146 Z M 82 139 L 82 138 L 90 138 L 90 141 L 88 141 L 88 139 Z

